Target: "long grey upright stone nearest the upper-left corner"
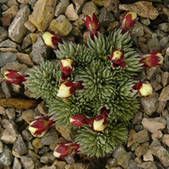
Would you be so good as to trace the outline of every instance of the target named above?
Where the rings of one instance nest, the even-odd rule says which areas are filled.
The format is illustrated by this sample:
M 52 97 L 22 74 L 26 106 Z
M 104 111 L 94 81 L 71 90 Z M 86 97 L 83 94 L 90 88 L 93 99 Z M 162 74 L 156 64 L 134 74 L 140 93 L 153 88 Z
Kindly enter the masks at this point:
M 12 21 L 8 29 L 8 34 L 13 41 L 19 43 L 22 41 L 27 31 L 24 26 L 24 23 L 27 21 L 29 13 L 30 9 L 28 6 L 25 5 L 19 10 L 14 20 Z

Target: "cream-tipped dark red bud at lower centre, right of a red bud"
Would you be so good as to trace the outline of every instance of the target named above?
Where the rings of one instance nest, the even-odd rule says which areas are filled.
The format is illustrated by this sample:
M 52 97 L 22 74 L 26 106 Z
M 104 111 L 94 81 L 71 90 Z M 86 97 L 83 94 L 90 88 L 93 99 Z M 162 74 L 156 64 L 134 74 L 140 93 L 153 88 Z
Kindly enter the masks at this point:
M 93 119 L 93 125 L 92 125 L 93 130 L 104 131 L 106 129 L 106 126 L 107 126 L 107 117 L 108 117 L 107 112 L 103 112 L 102 114 L 97 115 Z

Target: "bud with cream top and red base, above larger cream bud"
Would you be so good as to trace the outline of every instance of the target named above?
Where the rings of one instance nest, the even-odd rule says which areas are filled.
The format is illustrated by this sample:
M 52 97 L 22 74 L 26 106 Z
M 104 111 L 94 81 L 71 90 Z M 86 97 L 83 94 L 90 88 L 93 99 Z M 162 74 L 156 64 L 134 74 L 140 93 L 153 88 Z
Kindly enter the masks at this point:
M 72 59 L 62 59 L 60 61 L 61 70 L 65 76 L 70 76 L 73 71 L 73 60 Z

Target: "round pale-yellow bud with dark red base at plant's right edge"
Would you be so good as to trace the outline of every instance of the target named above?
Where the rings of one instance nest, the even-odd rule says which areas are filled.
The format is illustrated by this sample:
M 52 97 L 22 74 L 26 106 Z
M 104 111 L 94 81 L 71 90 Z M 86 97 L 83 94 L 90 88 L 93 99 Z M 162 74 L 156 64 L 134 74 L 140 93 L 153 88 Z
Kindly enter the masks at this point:
M 149 82 L 139 82 L 136 89 L 140 96 L 149 96 L 153 93 L 153 88 Z

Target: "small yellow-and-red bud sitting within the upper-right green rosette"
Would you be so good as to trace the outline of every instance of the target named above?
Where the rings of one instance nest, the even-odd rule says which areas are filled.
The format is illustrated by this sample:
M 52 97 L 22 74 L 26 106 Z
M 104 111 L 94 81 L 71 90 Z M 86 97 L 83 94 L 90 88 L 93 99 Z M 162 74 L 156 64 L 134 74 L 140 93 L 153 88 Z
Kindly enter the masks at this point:
M 112 52 L 110 56 L 110 60 L 113 62 L 113 67 L 126 66 L 126 63 L 124 62 L 124 51 L 120 49 L 116 49 Z

